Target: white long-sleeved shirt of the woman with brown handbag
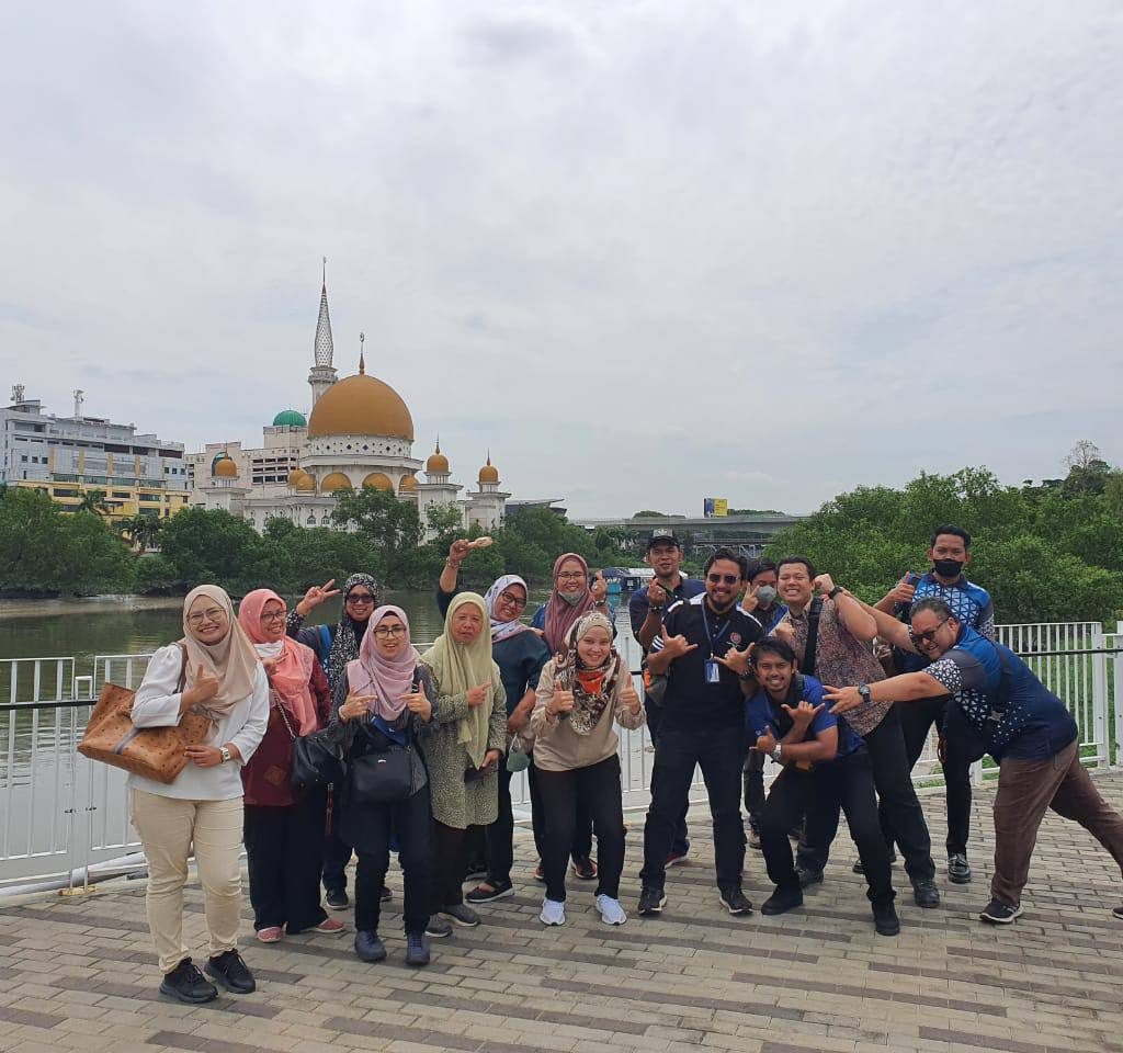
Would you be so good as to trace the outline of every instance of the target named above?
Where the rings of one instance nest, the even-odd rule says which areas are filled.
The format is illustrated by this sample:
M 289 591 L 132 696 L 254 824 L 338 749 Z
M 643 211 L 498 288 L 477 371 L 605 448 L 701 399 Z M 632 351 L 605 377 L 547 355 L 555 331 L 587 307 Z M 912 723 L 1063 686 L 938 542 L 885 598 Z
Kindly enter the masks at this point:
M 136 727 L 173 727 L 180 723 L 182 693 L 180 671 L 183 652 L 174 643 L 162 647 L 148 662 L 144 680 L 133 702 L 133 724 Z M 218 722 L 218 727 L 207 745 L 230 743 L 238 748 L 241 763 L 229 760 L 214 768 L 200 768 L 188 762 L 179 778 L 171 785 L 129 775 L 130 789 L 176 797 L 182 800 L 230 800 L 241 796 L 241 766 L 249 761 L 257 749 L 270 716 L 270 681 L 262 666 L 254 674 L 254 690 L 243 698 L 229 716 Z

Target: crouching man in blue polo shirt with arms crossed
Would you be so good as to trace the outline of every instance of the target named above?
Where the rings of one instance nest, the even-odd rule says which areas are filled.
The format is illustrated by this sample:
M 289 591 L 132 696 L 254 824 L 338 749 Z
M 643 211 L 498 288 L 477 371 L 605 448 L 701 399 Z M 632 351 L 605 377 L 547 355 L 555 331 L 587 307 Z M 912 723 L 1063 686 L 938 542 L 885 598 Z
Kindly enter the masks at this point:
M 760 848 L 776 885 L 760 913 L 785 914 L 802 906 L 787 834 L 813 797 L 828 797 L 841 806 L 858 846 L 875 928 L 883 936 L 897 935 L 901 923 L 893 906 L 889 850 L 877 819 L 874 769 L 865 743 L 825 708 L 823 686 L 798 672 L 791 644 L 775 637 L 758 640 L 752 670 L 760 689 L 746 705 L 749 739 L 760 757 L 784 766 L 760 813 Z

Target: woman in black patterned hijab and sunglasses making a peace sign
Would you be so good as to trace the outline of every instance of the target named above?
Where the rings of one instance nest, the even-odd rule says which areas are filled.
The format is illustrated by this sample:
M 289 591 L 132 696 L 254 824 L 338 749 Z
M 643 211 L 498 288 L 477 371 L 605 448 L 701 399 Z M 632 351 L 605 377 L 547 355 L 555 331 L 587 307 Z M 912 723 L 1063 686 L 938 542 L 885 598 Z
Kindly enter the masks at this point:
M 304 647 L 311 648 L 319 658 L 328 677 L 328 689 L 332 697 L 339 685 L 347 679 L 347 663 L 358 658 L 359 647 L 371 622 L 371 614 L 378 605 L 378 583 L 369 574 L 353 574 L 344 582 L 344 608 L 336 625 L 304 626 L 304 619 L 321 603 L 334 599 L 340 589 L 332 588 L 336 579 L 313 585 L 304 598 L 289 614 L 285 631 Z M 339 787 L 331 795 L 331 816 L 339 811 Z M 328 824 L 323 839 L 323 891 L 332 910 L 346 910 L 350 906 L 347 898 L 347 864 L 350 848 L 339 840 L 334 822 Z M 390 889 L 383 888 L 383 900 L 390 899 Z

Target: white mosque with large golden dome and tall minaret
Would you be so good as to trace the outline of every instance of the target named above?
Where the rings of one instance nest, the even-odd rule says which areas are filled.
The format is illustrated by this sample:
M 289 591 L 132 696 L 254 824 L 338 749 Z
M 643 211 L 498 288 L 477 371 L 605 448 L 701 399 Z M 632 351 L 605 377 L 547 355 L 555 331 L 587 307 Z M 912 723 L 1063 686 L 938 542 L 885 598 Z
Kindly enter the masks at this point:
M 463 496 L 439 438 L 421 475 L 421 461 L 413 456 L 413 418 L 402 396 L 366 372 L 362 350 L 358 373 L 343 379 L 337 378 L 332 355 L 325 275 L 308 376 L 311 413 L 305 419 L 298 410 L 282 410 L 263 429 L 259 448 L 210 442 L 186 455 L 190 504 L 223 509 L 257 530 L 277 515 L 299 526 L 330 526 L 336 494 L 369 486 L 414 502 L 423 525 L 431 505 L 451 505 L 465 528 L 497 528 L 511 495 L 500 488 L 491 452 L 477 475 L 477 488 Z

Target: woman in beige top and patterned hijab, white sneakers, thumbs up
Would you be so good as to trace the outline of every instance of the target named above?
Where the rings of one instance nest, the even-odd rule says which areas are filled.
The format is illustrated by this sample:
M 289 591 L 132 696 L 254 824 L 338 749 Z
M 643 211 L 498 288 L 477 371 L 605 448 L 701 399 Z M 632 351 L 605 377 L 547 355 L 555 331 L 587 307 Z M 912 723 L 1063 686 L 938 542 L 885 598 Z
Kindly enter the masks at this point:
M 612 624 L 596 611 L 569 630 L 565 648 L 546 663 L 538 681 L 530 726 L 546 817 L 546 925 L 565 924 L 565 871 L 577 808 L 593 817 L 600 846 L 596 907 L 606 925 L 628 921 L 620 906 L 624 863 L 617 733 L 643 723 L 639 694 L 628 666 L 612 645 Z

